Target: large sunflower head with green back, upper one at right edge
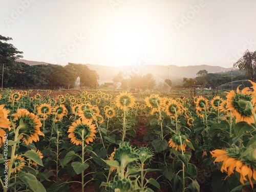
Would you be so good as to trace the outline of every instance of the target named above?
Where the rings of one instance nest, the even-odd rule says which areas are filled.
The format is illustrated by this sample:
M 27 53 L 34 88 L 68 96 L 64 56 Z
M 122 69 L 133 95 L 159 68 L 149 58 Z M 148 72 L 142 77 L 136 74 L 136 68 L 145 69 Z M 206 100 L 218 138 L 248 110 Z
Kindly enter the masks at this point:
M 237 93 L 231 90 L 227 92 L 226 109 L 232 111 L 232 116 L 236 117 L 236 122 L 245 121 L 249 124 L 254 123 L 253 113 L 256 108 L 252 110 L 255 105 L 252 99 L 252 92 L 249 88 L 244 88 L 241 92 L 239 87 Z M 253 103 L 252 103 L 253 102 Z

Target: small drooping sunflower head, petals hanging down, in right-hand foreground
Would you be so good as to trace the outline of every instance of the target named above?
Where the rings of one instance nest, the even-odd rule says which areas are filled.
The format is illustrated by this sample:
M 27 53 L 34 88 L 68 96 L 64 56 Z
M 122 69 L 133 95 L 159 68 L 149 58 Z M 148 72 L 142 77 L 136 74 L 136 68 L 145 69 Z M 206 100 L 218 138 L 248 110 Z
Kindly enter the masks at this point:
M 188 142 L 190 142 L 185 135 L 175 134 L 169 140 L 169 147 L 175 148 L 175 151 L 181 151 L 181 142 L 182 142 L 182 151 L 186 151 L 186 146 Z

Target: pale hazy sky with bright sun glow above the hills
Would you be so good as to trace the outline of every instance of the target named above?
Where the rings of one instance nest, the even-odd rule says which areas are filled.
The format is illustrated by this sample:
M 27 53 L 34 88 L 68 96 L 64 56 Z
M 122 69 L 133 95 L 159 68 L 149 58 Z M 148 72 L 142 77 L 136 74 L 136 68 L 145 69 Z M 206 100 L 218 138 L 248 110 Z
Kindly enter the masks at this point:
M 27 60 L 230 68 L 256 50 L 255 0 L 0 0 L 0 34 Z

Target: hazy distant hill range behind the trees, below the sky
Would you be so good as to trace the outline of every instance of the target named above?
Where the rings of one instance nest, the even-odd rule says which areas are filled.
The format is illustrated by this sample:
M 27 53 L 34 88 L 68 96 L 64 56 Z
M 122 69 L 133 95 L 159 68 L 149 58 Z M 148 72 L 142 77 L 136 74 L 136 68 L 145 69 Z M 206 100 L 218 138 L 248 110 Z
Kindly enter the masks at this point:
M 47 65 L 47 62 L 30 61 L 25 59 L 17 59 L 17 61 L 25 62 L 30 66 L 33 65 Z M 178 67 L 175 65 L 160 66 L 160 65 L 141 65 L 141 66 L 120 66 L 120 67 L 109 67 L 92 64 L 84 64 L 89 69 L 95 70 L 99 74 L 99 83 L 112 82 L 112 79 L 120 71 L 125 77 L 129 77 L 131 73 L 147 74 L 151 73 L 154 78 L 159 81 L 164 81 L 169 77 L 170 80 L 182 80 L 183 77 L 195 78 L 200 70 L 206 70 L 208 73 L 219 73 L 231 70 L 238 70 L 237 68 L 223 68 L 219 66 L 187 66 Z M 231 75 L 231 74 L 230 74 Z

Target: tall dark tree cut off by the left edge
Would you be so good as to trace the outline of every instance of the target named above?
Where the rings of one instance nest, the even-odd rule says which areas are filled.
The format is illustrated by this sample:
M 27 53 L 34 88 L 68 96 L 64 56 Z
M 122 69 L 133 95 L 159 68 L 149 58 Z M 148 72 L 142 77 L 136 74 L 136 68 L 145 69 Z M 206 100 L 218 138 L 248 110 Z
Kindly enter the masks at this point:
M 4 67 L 10 67 L 14 64 L 14 61 L 18 58 L 22 58 L 23 52 L 18 51 L 12 44 L 8 44 L 7 41 L 12 40 L 11 37 L 4 37 L 0 35 L 0 64 L 2 64 L 2 90 L 4 83 Z M 9 79 L 8 76 L 7 80 Z

